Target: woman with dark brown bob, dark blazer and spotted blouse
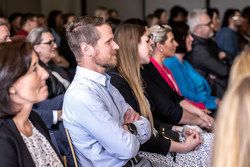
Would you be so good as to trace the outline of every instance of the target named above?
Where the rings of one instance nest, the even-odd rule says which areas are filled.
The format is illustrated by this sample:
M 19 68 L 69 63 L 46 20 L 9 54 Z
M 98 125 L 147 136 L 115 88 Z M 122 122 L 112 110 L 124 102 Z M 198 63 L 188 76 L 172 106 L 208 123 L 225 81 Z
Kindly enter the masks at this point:
M 30 43 L 0 44 L 1 166 L 63 166 L 34 103 L 48 96 L 48 73 Z

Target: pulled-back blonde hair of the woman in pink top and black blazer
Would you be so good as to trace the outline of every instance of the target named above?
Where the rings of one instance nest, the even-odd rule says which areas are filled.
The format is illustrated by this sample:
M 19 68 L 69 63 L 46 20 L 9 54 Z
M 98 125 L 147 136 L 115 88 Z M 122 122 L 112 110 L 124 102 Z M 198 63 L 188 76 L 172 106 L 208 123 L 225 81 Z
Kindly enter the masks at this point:
M 167 40 L 167 33 L 172 32 L 172 28 L 169 25 L 154 25 L 149 28 L 149 31 L 155 43 L 164 44 Z

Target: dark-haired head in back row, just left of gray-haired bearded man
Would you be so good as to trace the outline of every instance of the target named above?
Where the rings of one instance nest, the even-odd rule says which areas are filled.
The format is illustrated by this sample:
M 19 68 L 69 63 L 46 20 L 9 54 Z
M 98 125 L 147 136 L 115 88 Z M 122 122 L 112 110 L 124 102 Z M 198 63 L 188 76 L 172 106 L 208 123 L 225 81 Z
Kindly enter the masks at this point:
M 172 22 L 183 22 L 187 23 L 188 11 L 181 6 L 174 6 L 170 9 L 170 19 L 169 24 Z

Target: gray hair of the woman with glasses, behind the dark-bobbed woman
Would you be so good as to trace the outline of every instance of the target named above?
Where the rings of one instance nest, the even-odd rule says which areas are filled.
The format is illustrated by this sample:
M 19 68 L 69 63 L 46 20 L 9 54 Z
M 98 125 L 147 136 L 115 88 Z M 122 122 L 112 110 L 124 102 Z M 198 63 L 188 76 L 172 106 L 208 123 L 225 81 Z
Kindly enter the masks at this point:
M 42 34 L 50 32 L 48 28 L 34 28 L 29 32 L 27 40 L 31 43 L 32 47 L 42 42 Z

